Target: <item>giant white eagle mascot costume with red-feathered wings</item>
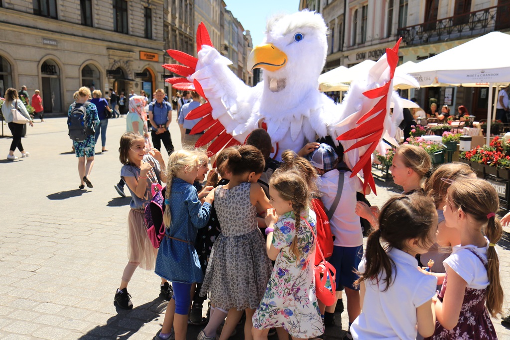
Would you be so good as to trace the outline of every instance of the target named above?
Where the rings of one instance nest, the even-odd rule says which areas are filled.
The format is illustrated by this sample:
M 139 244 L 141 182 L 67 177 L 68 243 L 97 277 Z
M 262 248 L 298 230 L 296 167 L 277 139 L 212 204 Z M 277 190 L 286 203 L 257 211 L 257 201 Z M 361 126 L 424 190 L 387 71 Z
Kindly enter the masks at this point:
M 386 49 L 366 79 L 351 85 L 342 104 L 318 90 L 327 55 L 327 27 L 320 14 L 308 10 L 268 20 L 263 44 L 254 47 L 248 58 L 248 69 L 264 69 L 257 86 L 247 86 L 228 68 L 232 62 L 212 46 L 203 23 L 196 37 L 198 58 L 168 50 L 184 65 L 163 67 L 184 76 L 167 79 L 173 87 L 196 90 L 207 100 L 186 117 L 202 117 L 192 134 L 207 130 L 196 146 L 214 140 L 208 148 L 214 154 L 243 144 L 254 129 L 264 127 L 279 159 L 284 150 L 297 152 L 306 143 L 330 135 L 341 141 L 353 165 L 352 176 L 363 171 L 365 186 L 375 192 L 371 154 L 376 148 L 386 153 L 382 138 L 396 145 L 393 136 L 402 120 L 401 99 L 393 92 L 399 42 Z M 399 83 L 418 87 L 411 76 L 399 77 Z

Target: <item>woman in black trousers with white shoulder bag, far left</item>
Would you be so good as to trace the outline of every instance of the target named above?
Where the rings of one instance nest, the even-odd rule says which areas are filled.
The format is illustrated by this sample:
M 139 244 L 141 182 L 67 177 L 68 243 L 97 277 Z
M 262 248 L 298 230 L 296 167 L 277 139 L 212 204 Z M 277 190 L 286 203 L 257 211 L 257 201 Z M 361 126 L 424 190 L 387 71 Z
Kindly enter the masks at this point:
M 32 118 L 30 118 L 27 109 L 21 100 L 19 100 L 18 92 L 16 89 L 10 87 L 7 89 L 7 91 L 5 91 L 5 101 L 2 105 L 2 114 L 4 115 L 4 119 L 12 133 L 11 148 L 9 149 L 9 154 L 7 155 L 7 159 L 10 161 L 18 159 L 14 155 L 14 150 L 16 150 L 16 148 L 18 148 L 18 150 L 21 152 L 22 158 L 29 156 L 29 153 L 25 151 L 23 149 L 23 145 L 21 145 L 21 133 L 23 132 L 23 124 L 14 123 L 12 121 L 13 117 L 11 110 L 13 109 L 17 109 L 19 112 L 21 112 L 24 117 L 30 120 L 30 126 L 34 126 L 34 122 L 32 121 Z

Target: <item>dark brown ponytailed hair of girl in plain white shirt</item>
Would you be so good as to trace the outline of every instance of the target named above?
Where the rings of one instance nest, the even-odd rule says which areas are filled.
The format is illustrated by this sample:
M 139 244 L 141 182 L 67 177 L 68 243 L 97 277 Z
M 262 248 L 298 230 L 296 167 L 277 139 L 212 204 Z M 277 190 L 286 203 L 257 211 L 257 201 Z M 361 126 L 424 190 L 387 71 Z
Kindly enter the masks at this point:
M 379 229 L 368 237 L 365 272 L 360 273 L 355 283 L 376 277 L 386 285 L 384 292 L 387 291 L 394 280 L 395 267 L 387 251 L 390 248 L 405 251 L 405 242 L 409 239 L 416 238 L 423 245 L 432 242 L 430 228 L 437 225 L 436 207 L 430 198 L 419 193 L 390 198 L 379 213 Z

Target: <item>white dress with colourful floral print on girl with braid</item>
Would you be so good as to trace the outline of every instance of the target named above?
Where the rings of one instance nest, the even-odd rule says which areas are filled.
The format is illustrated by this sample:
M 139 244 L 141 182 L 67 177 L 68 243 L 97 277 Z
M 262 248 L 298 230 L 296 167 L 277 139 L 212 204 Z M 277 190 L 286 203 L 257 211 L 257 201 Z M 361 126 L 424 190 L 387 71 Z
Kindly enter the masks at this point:
M 316 232 L 316 216 L 311 210 L 303 215 Z M 259 308 L 253 315 L 253 327 L 283 327 L 293 337 L 311 338 L 324 333 L 315 296 L 314 258 L 316 242 L 310 228 L 300 220 L 297 230 L 299 257 L 291 244 L 296 234 L 295 216 L 289 212 L 274 226 L 272 244 L 281 249 Z

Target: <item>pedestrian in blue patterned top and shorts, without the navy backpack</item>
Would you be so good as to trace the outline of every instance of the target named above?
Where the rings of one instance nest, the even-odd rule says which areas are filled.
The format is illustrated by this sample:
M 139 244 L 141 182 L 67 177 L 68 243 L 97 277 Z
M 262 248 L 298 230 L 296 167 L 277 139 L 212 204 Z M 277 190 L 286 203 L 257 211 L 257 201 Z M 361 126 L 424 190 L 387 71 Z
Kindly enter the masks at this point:
M 67 115 L 70 116 L 72 110 L 75 107 L 84 106 L 85 107 L 85 121 L 89 128 L 94 128 L 97 124 L 99 124 L 99 117 L 97 116 L 96 106 L 88 102 L 90 99 L 90 90 L 86 86 L 82 86 L 78 90 L 78 99 L 74 101 L 69 106 L 69 111 Z M 94 165 L 94 155 L 95 155 L 95 136 L 89 135 L 82 142 L 73 141 L 74 153 L 78 157 L 78 174 L 80 175 L 80 189 L 85 188 L 85 184 L 89 188 L 93 188 L 92 183 L 89 180 L 90 172 L 92 171 L 92 166 Z M 85 162 L 85 160 L 87 162 Z

